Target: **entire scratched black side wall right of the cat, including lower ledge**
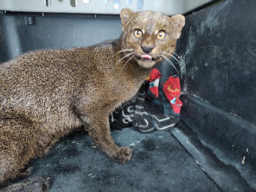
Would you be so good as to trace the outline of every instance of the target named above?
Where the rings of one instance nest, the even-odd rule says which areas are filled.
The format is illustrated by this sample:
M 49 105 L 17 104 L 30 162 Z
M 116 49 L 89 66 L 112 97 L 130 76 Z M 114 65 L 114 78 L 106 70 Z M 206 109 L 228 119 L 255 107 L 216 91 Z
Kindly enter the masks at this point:
M 256 1 L 223 1 L 188 15 L 181 120 L 256 189 Z

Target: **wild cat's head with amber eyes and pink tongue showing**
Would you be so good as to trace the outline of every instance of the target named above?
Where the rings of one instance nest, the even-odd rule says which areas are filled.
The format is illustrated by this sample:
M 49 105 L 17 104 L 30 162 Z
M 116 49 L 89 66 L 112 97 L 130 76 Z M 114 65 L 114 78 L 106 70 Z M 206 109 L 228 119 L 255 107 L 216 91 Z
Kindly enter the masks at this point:
M 151 68 L 162 58 L 170 58 L 185 25 L 183 15 L 168 17 L 160 12 L 133 12 L 124 8 L 122 21 L 122 48 L 127 58 L 136 60 L 141 67 Z

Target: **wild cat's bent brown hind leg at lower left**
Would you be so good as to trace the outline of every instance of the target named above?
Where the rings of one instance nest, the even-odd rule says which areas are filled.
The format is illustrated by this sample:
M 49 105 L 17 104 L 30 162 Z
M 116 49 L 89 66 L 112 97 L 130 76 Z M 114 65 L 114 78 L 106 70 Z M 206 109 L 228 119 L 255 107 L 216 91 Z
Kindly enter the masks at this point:
M 0 186 L 27 176 L 35 157 L 36 138 L 31 124 L 18 118 L 0 119 Z

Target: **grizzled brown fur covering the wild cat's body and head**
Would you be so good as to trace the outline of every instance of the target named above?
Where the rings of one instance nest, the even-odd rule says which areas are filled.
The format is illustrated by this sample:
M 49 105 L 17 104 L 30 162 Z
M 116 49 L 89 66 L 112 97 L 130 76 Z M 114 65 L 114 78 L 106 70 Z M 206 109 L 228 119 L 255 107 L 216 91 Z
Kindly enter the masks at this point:
M 23 54 L 0 65 L 0 186 L 25 176 L 28 161 L 43 156 L 60 137 L 85 125 L 97 146 L 124 163 L 132 150 L 119 148 L 108 115 L 136 94 L 161 51 L 172 53 L 185 24 L 182 15 L 121 11 L 122 36 L 116 41 Z M 138 39 L 134 29 L 145 33 Z M 156 32 L 164 30 L 164 40 Z M 153 60 L 141 60 L 141 46 L 154 46 Z M 120 50 L 132 49 L 123 60 Z M 119 62 L 118 62 L 119 61 Z

